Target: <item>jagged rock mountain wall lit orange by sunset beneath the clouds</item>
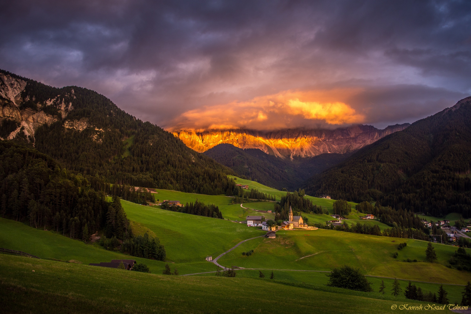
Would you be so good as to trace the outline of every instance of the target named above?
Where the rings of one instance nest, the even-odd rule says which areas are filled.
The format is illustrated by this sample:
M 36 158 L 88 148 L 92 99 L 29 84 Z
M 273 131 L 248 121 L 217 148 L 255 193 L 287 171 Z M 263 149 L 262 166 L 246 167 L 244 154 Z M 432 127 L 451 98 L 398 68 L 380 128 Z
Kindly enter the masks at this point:
M 219 144 L 258 148 L 280 158 L 312 157 L 323 153 L 350 153 L 391 133 L 406 129 L 410 124 L 397 124 L 386 129 L 370 125 L 355 125 L 344 129 L 287 129 L 261 132 L 255 130 L 208 130 L 204 132 L 174 131 L 193 150 L 203 153 Z

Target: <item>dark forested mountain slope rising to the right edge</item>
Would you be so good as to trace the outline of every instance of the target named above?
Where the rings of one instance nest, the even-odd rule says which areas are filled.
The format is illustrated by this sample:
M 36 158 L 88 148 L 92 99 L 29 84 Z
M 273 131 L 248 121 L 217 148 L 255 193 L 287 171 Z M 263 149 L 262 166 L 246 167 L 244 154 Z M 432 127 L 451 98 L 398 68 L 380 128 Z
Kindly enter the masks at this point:
M 471 97 L 368 145 L 311 178 L 310 195 L 471 217 Z

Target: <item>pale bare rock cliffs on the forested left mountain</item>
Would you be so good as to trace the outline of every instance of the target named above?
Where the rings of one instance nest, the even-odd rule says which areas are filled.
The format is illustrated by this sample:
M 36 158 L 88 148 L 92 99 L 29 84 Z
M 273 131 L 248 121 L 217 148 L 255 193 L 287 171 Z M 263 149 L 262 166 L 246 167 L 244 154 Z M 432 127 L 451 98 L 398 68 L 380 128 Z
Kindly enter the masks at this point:
M 87 121 L 65 121 L 67 114 L 73 110 L 71 93 L 39 100 L 28 96 L 28 82 L 16 75 L 0 72 L 0 139 L 13 139 L 24 136 L 34 142 L 34 133 L 40 126 L 64 121 L 68 129 L 83 130 L 89 125 Z M 8 127 L 7 127 L 8 125 Z

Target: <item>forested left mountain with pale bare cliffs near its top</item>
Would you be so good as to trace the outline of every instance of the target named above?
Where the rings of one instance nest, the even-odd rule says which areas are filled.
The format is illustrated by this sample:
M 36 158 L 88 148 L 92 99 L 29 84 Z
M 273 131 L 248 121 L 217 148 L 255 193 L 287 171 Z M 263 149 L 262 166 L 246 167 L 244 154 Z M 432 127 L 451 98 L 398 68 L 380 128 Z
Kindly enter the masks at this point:
M 0 105 L 2 139 L 105 182 L 219 194 L 233 174 L 89 89 L 53 88 L 0 70 Z

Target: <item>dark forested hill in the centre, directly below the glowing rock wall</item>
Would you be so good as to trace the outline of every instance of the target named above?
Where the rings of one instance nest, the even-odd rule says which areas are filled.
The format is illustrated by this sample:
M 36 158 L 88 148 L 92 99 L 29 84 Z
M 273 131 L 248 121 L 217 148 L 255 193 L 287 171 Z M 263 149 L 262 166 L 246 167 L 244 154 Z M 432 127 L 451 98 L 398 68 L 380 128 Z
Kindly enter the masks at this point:
M 314 157 L 277 158 L 257 148 L 241 149 L 219 144 L 204 152 L 215 161 L 233 169 L 240 176 L 257 180 L 278 190 L 297 190 L 304 180 L 336 165 L 350 154 L 326 153 Z

